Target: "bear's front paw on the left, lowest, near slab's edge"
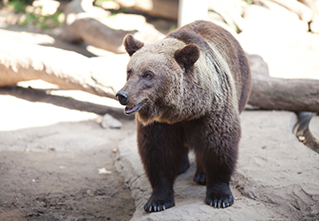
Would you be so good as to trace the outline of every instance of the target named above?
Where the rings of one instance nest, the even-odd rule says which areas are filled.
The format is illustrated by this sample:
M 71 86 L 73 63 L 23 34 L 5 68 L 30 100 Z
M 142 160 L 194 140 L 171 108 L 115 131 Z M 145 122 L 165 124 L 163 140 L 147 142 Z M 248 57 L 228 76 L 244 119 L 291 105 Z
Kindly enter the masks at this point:
M 152 194 L 148 202 L 144 205 L 144 210 L 145 212 L 159 212 L 174 206 L 174 195 L 163 197 L 163 195 L 156 196 Z

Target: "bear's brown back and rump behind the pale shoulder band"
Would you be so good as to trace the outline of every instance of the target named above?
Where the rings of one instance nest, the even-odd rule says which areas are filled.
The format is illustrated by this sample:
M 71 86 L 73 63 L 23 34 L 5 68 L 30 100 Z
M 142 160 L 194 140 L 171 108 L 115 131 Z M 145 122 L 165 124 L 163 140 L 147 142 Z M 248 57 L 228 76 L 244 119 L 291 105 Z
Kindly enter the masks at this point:
M 251 91 L 251 73 L 245 52 L 232 34 L 212 22 L 198 20 L 167 34 L 167 38 L 185 44 L 195 43 L 201 51 L 211 51 L 210 45 L 213 44 L 229 65 L 235 80 L 238 110 L 245 109 Z

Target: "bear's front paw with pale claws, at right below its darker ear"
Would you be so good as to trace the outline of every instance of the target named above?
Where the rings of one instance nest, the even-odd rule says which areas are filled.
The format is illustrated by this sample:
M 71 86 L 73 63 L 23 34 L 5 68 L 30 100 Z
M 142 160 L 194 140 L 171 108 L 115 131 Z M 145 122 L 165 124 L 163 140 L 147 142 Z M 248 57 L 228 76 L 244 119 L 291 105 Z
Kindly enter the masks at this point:
M 207 188 L 205 202 L 214 208 L 226 208 L 234 203 L 234 196 L 230 192 L 230 187 L 222 183 L 213 188 Z

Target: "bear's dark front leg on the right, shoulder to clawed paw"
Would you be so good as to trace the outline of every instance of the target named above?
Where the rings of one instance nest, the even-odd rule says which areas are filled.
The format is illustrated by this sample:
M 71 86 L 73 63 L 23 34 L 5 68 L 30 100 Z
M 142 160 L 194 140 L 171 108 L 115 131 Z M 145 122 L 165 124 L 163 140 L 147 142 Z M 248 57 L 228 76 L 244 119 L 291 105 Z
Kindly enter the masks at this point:
M 206 138 L 199 138 L 195 147 L 197 171 L 194 181 L 206 184 L 206 204 L 226 208 L 234 203 L 230 177 L 237 162 L 240 126 L 237 123 L 227 129 L 214 126 L 209 126 Z

